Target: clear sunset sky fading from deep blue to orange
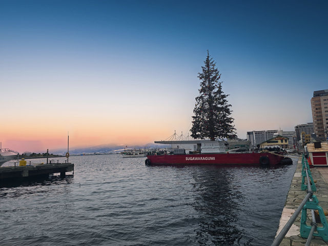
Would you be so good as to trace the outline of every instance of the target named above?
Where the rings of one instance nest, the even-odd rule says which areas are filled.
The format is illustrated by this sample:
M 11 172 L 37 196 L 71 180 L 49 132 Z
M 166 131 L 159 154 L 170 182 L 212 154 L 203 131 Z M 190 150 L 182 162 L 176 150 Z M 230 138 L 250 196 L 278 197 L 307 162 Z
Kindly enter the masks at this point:
M 191 128 L 207 50 L 237 135 L 312 122 L 327 1 L 0 0 L 0 141 L 145 145 Z

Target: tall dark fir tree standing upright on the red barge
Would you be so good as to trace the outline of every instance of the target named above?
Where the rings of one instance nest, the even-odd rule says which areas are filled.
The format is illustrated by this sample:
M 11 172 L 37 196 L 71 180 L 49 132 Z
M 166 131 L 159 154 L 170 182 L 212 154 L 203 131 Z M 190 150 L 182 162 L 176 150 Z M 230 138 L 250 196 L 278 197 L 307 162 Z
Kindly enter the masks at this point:
M 236 136 L 231 117 L 231 105 L 228 104 L 228 95 L 222 91 L 221 74 L 215 67 L 216 63 L 207 51 L 202 73 L 198 73 L 200 81 L 199 96 L 196 97 L 192 116 L 191 136 L 193 138 L 233 138 Z

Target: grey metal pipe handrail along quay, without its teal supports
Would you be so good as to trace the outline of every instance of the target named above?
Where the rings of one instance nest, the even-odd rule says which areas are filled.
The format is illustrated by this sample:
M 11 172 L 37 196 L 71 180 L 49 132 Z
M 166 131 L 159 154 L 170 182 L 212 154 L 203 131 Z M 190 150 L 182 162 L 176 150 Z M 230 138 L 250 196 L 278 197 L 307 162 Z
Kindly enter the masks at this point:
M 297 216 L 299 215 L 299 213 L 304 208 L 306 202 L 308 202 L 308 200 L 312 201 L 313 191 L 311 189 L 311 183 L 310 183 L 310 178 L 309 178 L 309 172 L 310 172 L 310 170 L 308 170 L 309 163 L 308 163 L 308 161 L 306 159 L 305 159 L 305 161 L 306 161 L 306 163 L 305 163 L 304 159 L 305 158 L 304 158 L 304 155 L 303 155 L 302 156 L 302 165 L 303 165 L 303 169 L 305 169 L 306 178 L 308 179 L 308 194 L 306 194 L 305 198 L 299 204 L 299 206 L 295 210 L 294 214 L 291 216 L 291 218 L 288 220 L 288 222 L 282 228 L 282 230 L 280 231 L 280 233 L 278 234 L 278 236 L 273 240 L 271 246 L 277 246 L 277 245 L 280 244 L 280 242 L 282 241 L 282 239 L 285 237 L 285 235 L 288 233 L 288 231 L 292 227 L 292 224 L 296 220 Z M 306 240 L 306 244 L 305 244 L 305 245 L 308 245 L 308 246 L 311 243 L 311 239 L 312 239 L 313 234 L 314 234 L 314 231 L 315 231 L 315 229 L 317 227 L 317 223 L 316 223 L 316 220 L 315 220 L 314 210 L 313 209 L 311 210 L 311 214 L 312 214 L 312 223 L 311 223 L 312 224 L 312 228 L 311 228 L 311 231 L 309 233 L 308 240 Z

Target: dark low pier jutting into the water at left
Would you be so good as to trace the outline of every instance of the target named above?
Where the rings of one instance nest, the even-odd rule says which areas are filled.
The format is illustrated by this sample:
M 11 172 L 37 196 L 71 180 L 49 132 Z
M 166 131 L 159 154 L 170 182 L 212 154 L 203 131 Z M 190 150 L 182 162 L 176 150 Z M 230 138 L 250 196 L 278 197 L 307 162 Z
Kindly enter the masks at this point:
M 60 173 L 60 176 L 65 176 L 66 172 L 72 171 L 74 171 L 73 163 L 50 163 L 35 166 L 0 167 L 0 181 L 17 180 L 53 173 Z

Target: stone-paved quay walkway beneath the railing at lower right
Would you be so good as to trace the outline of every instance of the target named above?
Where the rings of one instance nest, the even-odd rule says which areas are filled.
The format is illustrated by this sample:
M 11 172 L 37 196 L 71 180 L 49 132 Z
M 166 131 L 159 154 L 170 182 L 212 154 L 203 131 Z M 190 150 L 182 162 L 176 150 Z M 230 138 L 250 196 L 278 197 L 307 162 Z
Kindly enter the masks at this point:
M 314 195 L 317 196 L 319 200 L 319 206 L 327 210 L 328 209 L 328 168 L 311 168 L 311 174 L 316 184 L 317 191 L 314 192 Z M 295 212 L 299 204 L 302 202 L 304 197 L 306 196 L 307 192 L 301 190 L 301 183 L 302 183 L 302 159 L 300 158 L 297 163 L 297 168 L 292 179 L 291 187 L 288 192 L 285 207 L 283 208 L 280 222 L 279 222 L 279 229 L 277 231 L 277 235 L 284 227 L 285 223 L 289 220 L 292 214 Z M 310 213 L 311 214 L 311 213 Z M 285 238 L 280 243 L 281 246 L 300 246 L 305 245 L 306 238 L 300 237 L 300 219 L 301 213 L 298 215 L 297 219 L 295 220 L 293 226 L 291 227 L 290 231 L 286 234 Z M 311 223 L 311 216 L 309 223 Z M 326 219 L 328 220 L 327 216 Z M 322 224 L 318 225 L 322 227 Z M 328 242 L 324 242 L 320 237 L 314 237 L 311 240 L 312 246 L 327 246 Z

